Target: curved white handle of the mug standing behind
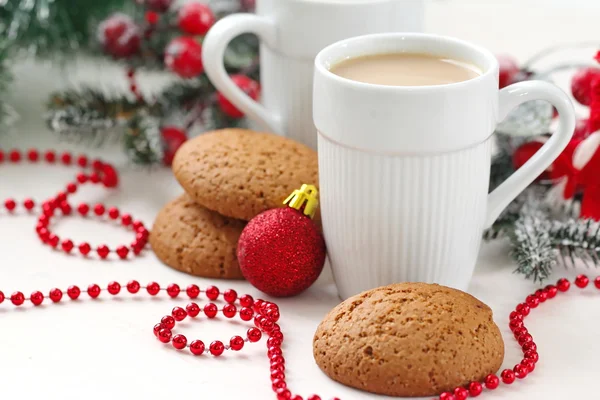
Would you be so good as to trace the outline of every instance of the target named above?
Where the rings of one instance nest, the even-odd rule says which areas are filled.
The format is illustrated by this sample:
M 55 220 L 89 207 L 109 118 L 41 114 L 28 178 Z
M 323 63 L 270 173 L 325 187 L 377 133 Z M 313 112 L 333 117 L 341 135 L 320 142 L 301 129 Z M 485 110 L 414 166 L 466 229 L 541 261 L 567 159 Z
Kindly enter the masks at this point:
M 269 46 L 274 46 L 277 28 L 275 22 L 253 14 L 233 14 L 219 20 L 210 28 L 202 43 L 202 63 L 212 84 L 249 118 L 264 128 L 283 134 L 279 115 L 267 110 L 250 98 L 231 80 L 223 58 L 231 40 L 243 33 L 253 33 Z

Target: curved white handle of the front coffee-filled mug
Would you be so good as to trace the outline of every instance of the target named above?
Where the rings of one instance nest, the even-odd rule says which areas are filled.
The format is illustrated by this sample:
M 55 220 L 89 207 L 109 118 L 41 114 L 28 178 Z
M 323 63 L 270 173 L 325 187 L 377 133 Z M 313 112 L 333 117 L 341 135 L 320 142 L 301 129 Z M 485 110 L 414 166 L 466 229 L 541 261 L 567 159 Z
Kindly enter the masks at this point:
M 565 92 L 544 81 L 519 82 L 500 90 L 498 120 L 502 121 L 513 108 L 531 100 L 546 100 L 558 110 L 558 131 L 521 168 L 488 195 L 484 229 L 489 228 L 508 204 L 558 158 L 573 136 L 573 104 Z

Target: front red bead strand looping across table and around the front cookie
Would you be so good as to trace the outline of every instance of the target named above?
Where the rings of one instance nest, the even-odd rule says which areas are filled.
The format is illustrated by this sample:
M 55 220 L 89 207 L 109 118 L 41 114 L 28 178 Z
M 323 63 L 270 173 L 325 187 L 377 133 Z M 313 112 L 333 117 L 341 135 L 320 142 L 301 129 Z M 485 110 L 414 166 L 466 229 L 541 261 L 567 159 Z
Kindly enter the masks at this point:
M 578 288 L 584 289 L 590 284 L 590 279 L 585 275 L 579 275 L 574 281 Z M 594 286 L 600 290 L 600 277 L 594 280 Z M 444 392 L 437 396 L 434 400 L 465 400 L 472 397 L 478 397 L 485 390 L 495 390 L 501 383 L 511 385 L 518 379 L 524 379 L 529 374 L 533 373 L 539 354 L 537 345 L 533 341 L 533 337 L 525 327 L 525 319 L 530 315 L 532 310 L 540 307 L 549 300 L 557 297 L 557 295 L 567 292 L 571 287 L 571 283 L 567 279 L 559 279 L 555 285 L 548 285 L 543 289 L 537 290 L 535 293 L 527 296 L 522 303 L 519 303 L 514 311 L 510 313 L 509 327 L 514 334 L 515 340 L 521 346 L 523 352 L 522 360 L 513 368 L 504 369 L 500 375 L 490 374 L 485 377 L 482 382 L 471 382 L 467 385 L 455 388 L 452 392 Z M 271 386 L 275 392 L 277 400 L 304 400 L 301 395 L 293 395 L 288 388 L 285 379 L 285 359 L 283 357 L 283 333 L 281 326 L 278 324 L 280 319 L 279 307 L 272 302 L 265 300 L 254 300 L 250 295 L 238 296 L 233 289 L 228 289 L 221 292 L 215 286 L 208 286 L 202 290 L 197 285 L 191 284 L 186 287 L 185 291 L 176 283 L 171 283 L 166 287 L 161 287 L 157 282 L 150 282 L 146 286 L 141 286 L 136 280 L 129 281 L 124 288 L 131 294 L 136 294 L 141 290 L 145 290 L 148 295 L 156 296 L 161 291 L 171 298 L 178 298 L 183 292 L 191 300 L 196 300 L 201 294 L 204 294 L 210 303 L 200 306 L 196 302 L 191 302 L 185 308 L 175 307 L 170 314 L 161 318 L 160 322 L 154 325 L 153 333 L 156 338 L 165 344 L 170 343 L 177 350 L 188 349 L 196 356 L 212 355 L 220 357 L 226 350 L 240 351 L 246 343 L 255 343 L 261 340 L 263 334 L 268 336 L 266 341 L 267 355 L 270 360 L 270 378 Z M 85 293 L 88 297 L 96 299 L 102 292 L 108 292 L 112 296 L 116 296 L 123 291 L 123 287 L 119 282 L 110 282 L 105 288 L 101 288 L 97 284 L 87 286 Z M 48 291 L 47 298 L 52 303 L 59 303 L 63 299 L 64 293 L 71 300 L 77 300 L 83 291 L 75 285 L 69 286 L 66 290 L 53 288 Z M 222 297 L 225 303 L 220 308 L 212 303 Z M 34 306 L 39 306 L 44 302 L 46 296 L 40 291 L 34 291 L 25 296 L 23 292 L 14 292 L 10 297 L 10 302 L 15 306 L 23 306 L 25 302 L 30 301 Z M 0 291 L 0 303 L 5 300 L 5 295 Z M 199 339 L 188 341 L 188 338 L 181 334 L 173 334 L 173 330 L 177 322 L 183 321 L 185 318 L 197 318 L 201 314 L 207 319 L 215 319 L 222 314 L 226 319 L 233 319 L 236 315 L 244 322 L 252 321 L 252 325 L 244 336 L 233 336 L 228 342 L 220 340 L 212 341 L 208 347 L 205 342 Z M 227 344 L 225 344 L 227 343 Z M 321 400 L 321 397 L 313 394 L 306 397 L 306 400 Z M 340 400 L 337 397 L 331 400 Z

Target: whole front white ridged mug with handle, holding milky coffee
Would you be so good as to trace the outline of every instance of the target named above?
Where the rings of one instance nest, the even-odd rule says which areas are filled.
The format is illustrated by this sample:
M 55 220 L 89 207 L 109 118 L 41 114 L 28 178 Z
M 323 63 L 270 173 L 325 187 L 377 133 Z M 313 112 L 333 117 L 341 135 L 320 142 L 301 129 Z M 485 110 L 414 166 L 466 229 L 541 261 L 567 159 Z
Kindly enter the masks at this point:
M 360 83 L 330 71 L 348 58 L 420 53 L 466 61 L 481 76 L 440 86 Z M 488 195 L 493 132 L 517 105 L 549 101 L 558 131 Z M 484 228 L 558 157 L 573 135 L 573 105 L 547 82 L 498 90 L 498 62 L 467 42 L 378 34 L 335 43 L 315 60 L 320 203 L 342 298 L 396 282 L 466 290 Z

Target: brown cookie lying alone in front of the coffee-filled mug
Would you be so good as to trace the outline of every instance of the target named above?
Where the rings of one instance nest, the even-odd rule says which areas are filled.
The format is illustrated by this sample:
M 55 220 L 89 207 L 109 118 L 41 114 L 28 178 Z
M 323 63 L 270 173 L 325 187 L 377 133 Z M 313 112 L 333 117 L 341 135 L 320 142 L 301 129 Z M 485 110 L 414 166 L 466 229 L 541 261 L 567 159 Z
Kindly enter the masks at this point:
M 434 396 L 495 373 L 504 342 L 492 310 L 444 286 L 400 283 L 335 307 L 313 339 L 331 379 L 388 396 Z

